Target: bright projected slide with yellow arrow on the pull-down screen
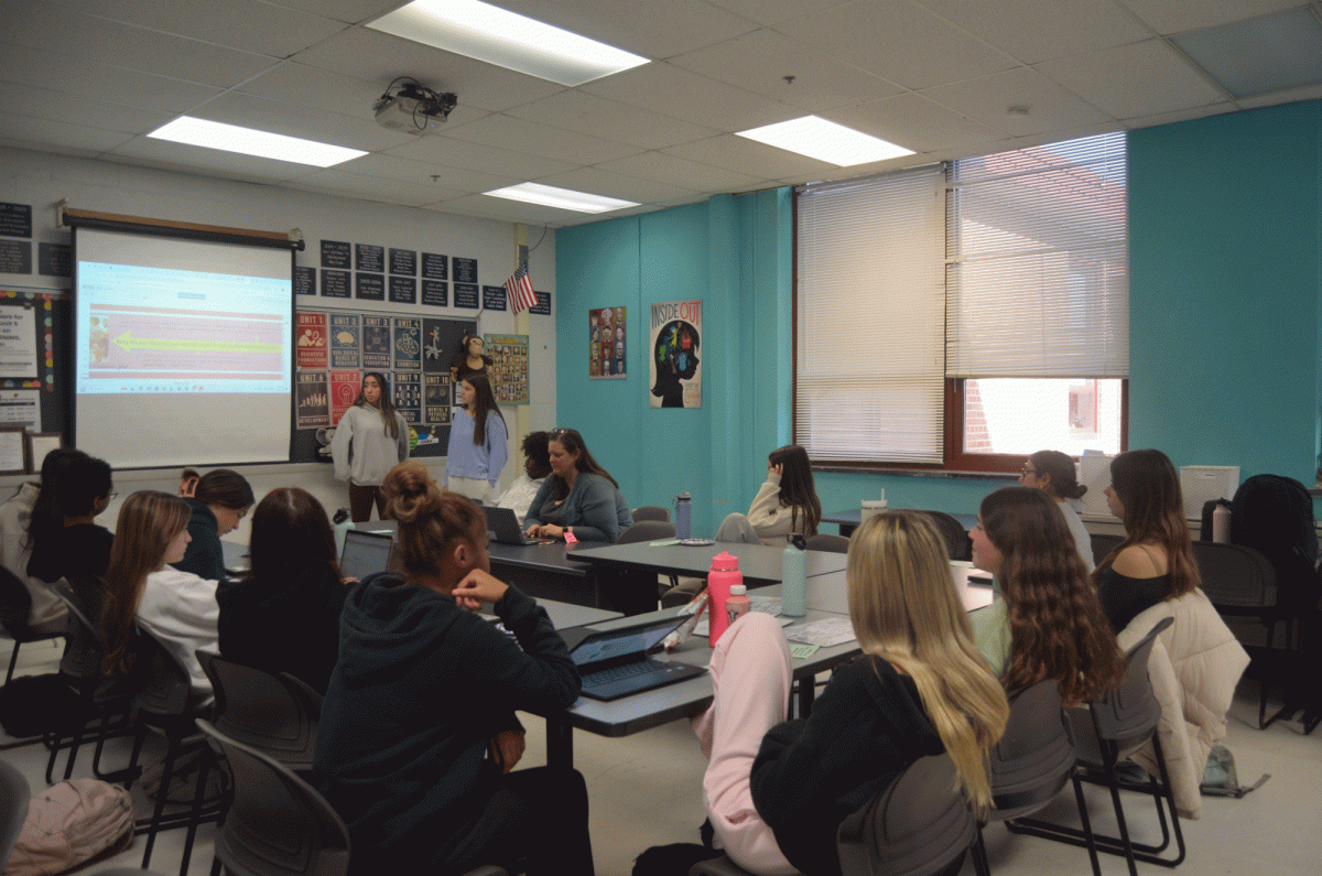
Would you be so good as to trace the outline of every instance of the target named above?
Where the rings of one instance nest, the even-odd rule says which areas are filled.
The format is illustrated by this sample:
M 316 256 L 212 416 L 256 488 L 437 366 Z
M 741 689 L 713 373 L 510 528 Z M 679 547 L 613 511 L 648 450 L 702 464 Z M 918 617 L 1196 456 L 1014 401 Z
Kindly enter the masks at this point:
M 290 282 L 81 262 L 78 393 L 288 393 Z

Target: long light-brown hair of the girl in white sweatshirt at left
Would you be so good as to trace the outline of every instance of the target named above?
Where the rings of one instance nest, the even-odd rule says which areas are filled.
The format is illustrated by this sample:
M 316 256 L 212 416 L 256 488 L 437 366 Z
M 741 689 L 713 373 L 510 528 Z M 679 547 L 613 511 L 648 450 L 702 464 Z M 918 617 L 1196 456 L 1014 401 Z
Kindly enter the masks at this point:
M 165 564 L 165 550 L 188 527 L 192 515 L 186 502 L 155 490 L 135 492 L 119 508 L 110 565 L 106 568 L 106 607 L 102 613 L 110 639 L 104 675 L 124 675 L 132 668 L 134 655 L 128 643 L 147 576 Z

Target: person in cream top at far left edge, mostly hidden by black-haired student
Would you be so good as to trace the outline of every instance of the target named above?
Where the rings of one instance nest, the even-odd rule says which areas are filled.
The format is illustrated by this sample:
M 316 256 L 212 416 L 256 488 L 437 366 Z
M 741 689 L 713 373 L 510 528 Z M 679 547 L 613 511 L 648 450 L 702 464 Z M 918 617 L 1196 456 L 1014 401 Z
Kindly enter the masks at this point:
M 59 447 L 46 454 L 41 462 L 41 480 L 28 480 L 19 487 L 19 491 L 0 505 L 0 561 L 5 569 L 17 577 L 32 598 L 32 607 L 28 610 L 28 627 L 37 633 L 58 633 L 65 629 L 65 603 L 56 598 L 45 584 L 36 576 L 28 574 L 28 561 L 32 557 L 32 528 L 33 520 L 40 529 L 42 525 L 62 525 L 62 520 L 56 509 L 56 480 L 59 472 L 73 459 L 85 457 L 81 450 Z M 42 484 L 48 484 L 42 499 Z

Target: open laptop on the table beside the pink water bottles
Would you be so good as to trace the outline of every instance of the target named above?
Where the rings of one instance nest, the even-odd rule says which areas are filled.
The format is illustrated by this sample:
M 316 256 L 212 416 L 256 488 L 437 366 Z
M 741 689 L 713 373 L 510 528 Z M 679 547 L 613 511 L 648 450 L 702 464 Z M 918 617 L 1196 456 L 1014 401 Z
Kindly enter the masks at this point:
M 583 696 L 594 700 L 617 700 L 683 679 L 707 670 L 686 663 L 656 660 L 648 652 L 680 627 L 690 615 L 661 618 L 617 630 L 595 631 L 590 627 L 564 630 L 570 656 L 583 679 Z M 575 639 L 578 639 L 575 642 Z

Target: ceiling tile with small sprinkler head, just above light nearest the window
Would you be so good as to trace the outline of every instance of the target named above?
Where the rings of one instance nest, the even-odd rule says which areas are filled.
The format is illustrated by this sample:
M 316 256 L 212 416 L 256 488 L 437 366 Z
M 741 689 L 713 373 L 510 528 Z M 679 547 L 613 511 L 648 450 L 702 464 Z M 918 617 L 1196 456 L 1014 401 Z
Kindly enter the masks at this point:
M 902 91 L 878 75 L 767 29 L 682 54 L 670 64 L 804 112 L 825 112 Z M 785 77 L 793 81 L 785 82 Z

